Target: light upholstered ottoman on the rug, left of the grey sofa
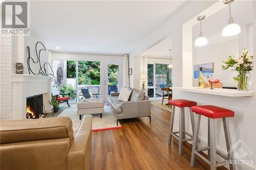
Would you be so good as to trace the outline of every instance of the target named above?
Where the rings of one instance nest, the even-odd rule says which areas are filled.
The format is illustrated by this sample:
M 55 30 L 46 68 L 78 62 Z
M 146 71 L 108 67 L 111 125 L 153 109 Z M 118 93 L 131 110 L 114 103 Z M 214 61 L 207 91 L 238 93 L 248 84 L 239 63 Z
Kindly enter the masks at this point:
M 82 114 L 100 114 L 104 113 L 104 104 L 101 99 L 82 99 L 77 104 L 77 115 L 81 120 Z

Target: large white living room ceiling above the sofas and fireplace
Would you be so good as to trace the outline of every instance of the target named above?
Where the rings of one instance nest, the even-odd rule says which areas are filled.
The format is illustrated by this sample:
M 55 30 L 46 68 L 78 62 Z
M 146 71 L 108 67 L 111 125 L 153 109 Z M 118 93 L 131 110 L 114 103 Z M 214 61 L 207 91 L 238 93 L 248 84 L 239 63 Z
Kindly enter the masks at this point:
M 31 1 L 30 25 L 49 50 L 127 54 L 184 3 Z

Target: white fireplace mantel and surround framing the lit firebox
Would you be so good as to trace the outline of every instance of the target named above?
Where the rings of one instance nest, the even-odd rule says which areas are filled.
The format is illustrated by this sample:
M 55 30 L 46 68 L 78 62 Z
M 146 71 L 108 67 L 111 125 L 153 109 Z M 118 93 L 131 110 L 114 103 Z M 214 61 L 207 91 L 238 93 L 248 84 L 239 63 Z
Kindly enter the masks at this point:
M 13 74 L 13 119 L 25 119 L 27 97 L 38 94 L 43 94 L 45 111 L 51 112 L 52 81 L 53 77 Z

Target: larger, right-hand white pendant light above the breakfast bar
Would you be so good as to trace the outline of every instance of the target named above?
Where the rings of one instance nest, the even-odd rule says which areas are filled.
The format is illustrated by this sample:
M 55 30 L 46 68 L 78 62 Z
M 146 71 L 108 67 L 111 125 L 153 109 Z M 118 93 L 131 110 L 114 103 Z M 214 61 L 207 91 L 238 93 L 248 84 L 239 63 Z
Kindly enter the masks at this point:
M 239 25 L 237 25 L 236 23 L 233 23 L 233 17 L 231 16 L 231 8 L 230 8 L 230 4 L 233 2 L 234 0 L 224 0 L 223 3 L 224 4 L 228 4 L 229 7 L 229 19 L 228 19 L 228 25 L 222 30 L 222 36 L 227 37 L 227 36 L 233 36 L 233 35 L 237 35 L 241 32 L 241 28 Z

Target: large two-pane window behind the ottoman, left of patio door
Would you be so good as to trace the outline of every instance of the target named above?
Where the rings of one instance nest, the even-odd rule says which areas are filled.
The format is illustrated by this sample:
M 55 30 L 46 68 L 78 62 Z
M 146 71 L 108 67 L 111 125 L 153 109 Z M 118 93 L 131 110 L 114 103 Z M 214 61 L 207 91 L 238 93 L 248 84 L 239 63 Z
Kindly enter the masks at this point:
M 53 94 L 70 93 L 70 102 L 78 102 L 83 97 L 81 89 L 88 88 L 89 92 L 100 98 L 99 61 L 53 60 L 52 66 L 55 74 Z M 76 77 L 77 73 L 78 77 Z

